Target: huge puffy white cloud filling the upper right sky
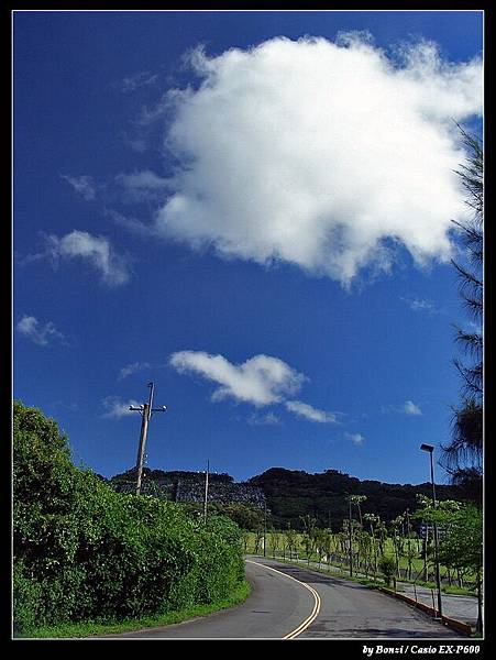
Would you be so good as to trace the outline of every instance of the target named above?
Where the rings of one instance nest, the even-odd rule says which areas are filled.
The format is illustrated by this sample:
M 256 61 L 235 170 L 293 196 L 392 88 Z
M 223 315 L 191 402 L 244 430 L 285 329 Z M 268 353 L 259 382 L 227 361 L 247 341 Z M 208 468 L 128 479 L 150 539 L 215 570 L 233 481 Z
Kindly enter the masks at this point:
M 155 230 L 343 286 L 389 270 L 398 245 L 420 266 L 448 261 L 466 212 L 453 119 L 482 113 L 482 63 L 445 62 L 427 42 L 400 57 L 355 35 L 195 51 L 199 87 L 161 103 L 179 165 Z M 146 180 L 159 183 L 131 183 Z

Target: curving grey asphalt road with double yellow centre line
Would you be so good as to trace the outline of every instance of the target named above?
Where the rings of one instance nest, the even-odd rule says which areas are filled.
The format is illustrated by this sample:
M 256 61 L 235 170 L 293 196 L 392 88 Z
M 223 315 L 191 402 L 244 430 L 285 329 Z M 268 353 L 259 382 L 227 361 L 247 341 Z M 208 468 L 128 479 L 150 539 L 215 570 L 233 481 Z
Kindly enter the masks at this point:
M 456 639 L 428 615 L 357 583 L 268 559 L 246 561 L 252 594 L 242 604 L 183 624 L 106 638 Z

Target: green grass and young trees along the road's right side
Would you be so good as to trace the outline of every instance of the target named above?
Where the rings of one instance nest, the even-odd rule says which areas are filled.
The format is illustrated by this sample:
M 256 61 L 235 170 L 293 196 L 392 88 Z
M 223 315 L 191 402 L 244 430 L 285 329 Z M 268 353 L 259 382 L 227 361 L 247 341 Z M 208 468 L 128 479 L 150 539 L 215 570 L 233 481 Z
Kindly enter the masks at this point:
M 361 496 L 362 507 L 364 503 Z M 318 527 L 309 516 L 301 521 L 302 532 L 290 526 L 282 530 L 260 526 L 256 531 L 243 531 L 243 550 L 333 568 L 343 576 L 371 584 L 403 581 L 434 588 L 436 521 L 443 591 L 478 594 L 483 570 L 482 512 L 473 503 L 447 501 L 434 508 L 428 497 L 419 495 L 414 513 L 405 512 L 389 524 L 362 510 L 354 515 L 359 519 L 343 519 L 337 531 Z

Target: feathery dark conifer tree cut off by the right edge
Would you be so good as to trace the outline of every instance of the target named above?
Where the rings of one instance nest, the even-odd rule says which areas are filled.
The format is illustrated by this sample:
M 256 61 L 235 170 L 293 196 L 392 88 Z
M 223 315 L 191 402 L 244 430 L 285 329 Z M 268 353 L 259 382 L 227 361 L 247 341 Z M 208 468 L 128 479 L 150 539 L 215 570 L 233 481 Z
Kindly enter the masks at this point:
M 475 483 L 482 484 L 483 452 L 484 154 L 481 141 L 461 127 L 459 129 L 467 147 L 467 160 L 456 174 L 461 177 L 466 193 L 465 204 L 472 215 L 462 222 L 453 220 L 460 231 L 464 258 L 461 262 L 452 260 L 452 264 L 474 330 L 455 326 L 455 341 L 470 356 L 471 364 L 454 359 L 462 378 L 462 402 L 453 407 L 452 439 L 442 449 L 444 468 L 453 483 L 473 491 Z

